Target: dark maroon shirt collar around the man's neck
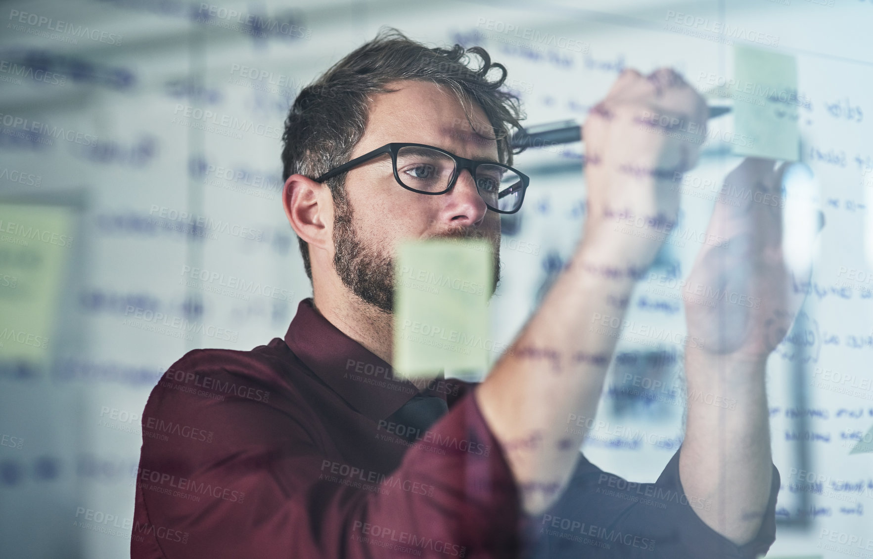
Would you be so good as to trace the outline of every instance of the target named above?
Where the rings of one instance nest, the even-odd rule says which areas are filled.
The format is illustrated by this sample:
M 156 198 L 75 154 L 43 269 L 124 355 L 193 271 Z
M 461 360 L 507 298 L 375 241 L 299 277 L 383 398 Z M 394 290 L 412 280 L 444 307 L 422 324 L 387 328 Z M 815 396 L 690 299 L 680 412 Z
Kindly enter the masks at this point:
M 394 378 L 391 365 L 348 337 L 306 297 L 285 333 L 285 344 L 334 392 L 369 419 L 386 419 L 419 393 L 409 380 Z M 436 380 L 442 380 L 440 373 Z M 446 399 L 445 393 L 422 393 Z

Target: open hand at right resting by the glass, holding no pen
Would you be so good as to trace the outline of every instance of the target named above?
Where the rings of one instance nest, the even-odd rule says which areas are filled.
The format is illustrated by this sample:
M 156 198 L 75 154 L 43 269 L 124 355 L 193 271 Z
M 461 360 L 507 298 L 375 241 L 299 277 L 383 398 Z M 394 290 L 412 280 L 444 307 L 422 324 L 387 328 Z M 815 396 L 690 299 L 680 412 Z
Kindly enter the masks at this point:
M 689 334 L 705 340 L 697 351 L 763 362 L 794 322 L 804 294 L 795 293 L 792 282 L 808 278 L 811 257 L 795 258 L 798 268 L 789 269 L 783 241 L 811 235 L 789 231 L 782 238 L 782 182 L 789 165 L 777 168 L 773 160 L 750 158 L 725 178 L 707 235 L 727 242 L 700 251 L 685 286 Z M 801 198 L 804 193 L 793 195 Z M 794 208 L 809 215 L 797 225 L 815 228 L 815 235 L 821 229 L 821 212 L 810 213 L 809 201 L 802 199 Z

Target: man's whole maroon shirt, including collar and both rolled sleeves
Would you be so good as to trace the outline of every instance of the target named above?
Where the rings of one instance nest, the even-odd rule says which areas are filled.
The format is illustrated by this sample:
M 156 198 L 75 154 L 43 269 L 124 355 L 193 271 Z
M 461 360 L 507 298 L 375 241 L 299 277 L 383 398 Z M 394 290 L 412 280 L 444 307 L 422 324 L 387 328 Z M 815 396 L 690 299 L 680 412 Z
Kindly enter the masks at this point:
M 678 453 L 656 484 L 633 484 L 636 501 L 651 488 L 663 507 L 623 496 L 627 484 L 581 457 L 551 514 L 526 517 L 475 386 L 432 381 L 423 393 L 445 399 L 449 412 L 409 433 L 388 418 L 416 386 L 392 378 L 308 298 L 284 340 L 190 351 L 142 414 L 131 556 L 656 557 L 657 549 L 753 557 L 773 542 L 775 493 L 759 537 L 737 548 L 680 502 Z M 535 538 L 538 549 L 528 543 Z

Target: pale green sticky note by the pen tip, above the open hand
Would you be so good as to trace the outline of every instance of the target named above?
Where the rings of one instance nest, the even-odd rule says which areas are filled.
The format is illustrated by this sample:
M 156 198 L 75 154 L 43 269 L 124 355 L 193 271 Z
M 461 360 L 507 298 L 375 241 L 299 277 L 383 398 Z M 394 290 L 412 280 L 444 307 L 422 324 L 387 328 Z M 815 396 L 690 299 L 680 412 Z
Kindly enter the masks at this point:
M 735 46 L 733 153 L 774 160 L 800 158 L 797 61 L 792 56 Z

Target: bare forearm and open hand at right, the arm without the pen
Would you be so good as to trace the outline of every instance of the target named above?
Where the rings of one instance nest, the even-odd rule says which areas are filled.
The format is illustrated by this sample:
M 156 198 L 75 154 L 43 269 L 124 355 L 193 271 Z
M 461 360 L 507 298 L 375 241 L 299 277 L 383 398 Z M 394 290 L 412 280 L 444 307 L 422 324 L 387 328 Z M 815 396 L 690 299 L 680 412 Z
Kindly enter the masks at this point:
M 764 515 L 772 515 L 766 359 L 800 309 L 792 275 L 809 276 L 823 221 L 812 192 L 792 192 L 806 178 L 793 165 L 747 159 L 728 174 L 707 229 L 727 242 L 701 250 L 685 287 L 688 333 L 704 344 L 685 353 L 688 420 L 679 477 L 690 499 L 711 501 L 696 510 L 700 518 L 737 544 L 752 540 Z M 783 200 L 787 173 L 801 184 L 787 181 Z

